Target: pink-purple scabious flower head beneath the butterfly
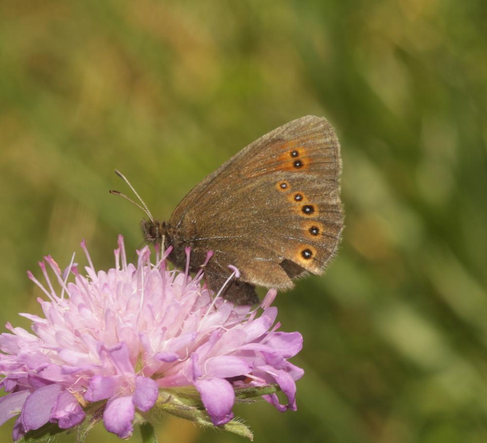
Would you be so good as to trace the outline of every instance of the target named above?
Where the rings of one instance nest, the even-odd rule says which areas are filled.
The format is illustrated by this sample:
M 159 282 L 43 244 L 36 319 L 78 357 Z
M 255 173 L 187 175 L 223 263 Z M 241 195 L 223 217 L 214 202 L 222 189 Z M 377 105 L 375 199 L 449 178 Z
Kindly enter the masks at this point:
M 14 440 L 48 423 L 74 427 L 87 415 L 127 438 L 137 417 L 146 420 L 156 408 L 199 423 L 204 413 L 209 423 L 225 425 L 240 393 L 273 385 L 286 404 L 276 390 L 262 397 L 280 411 L 296 409 L 295 381 L 303 371 L 287 359 L 300 351 L 302 337 L 277 331 L 277 308 L 270 306 L 275 291 L 258 315 L 212 298 L 203 272 L 192 278 L 167 270 L 165 257 L 151 264 L 148 247 L 137 265 L 127 263 L 121 236 L 108 272 L 96 272 L 81 245 L 87 276 L 73 260 L 63 274 L 46 257 L 39 263 L 46 285 L 28 273 L 47 298 L 38 299 L 45 318 L 20 314 L 32 321 L 33 333 L 7 323 L 11 333 L 0 335 L 0 387 L 7 393 L 0 398 L 0 424 L 18 416 Z M 191 392 L 199 394 L 197 402 L 188 400 Z

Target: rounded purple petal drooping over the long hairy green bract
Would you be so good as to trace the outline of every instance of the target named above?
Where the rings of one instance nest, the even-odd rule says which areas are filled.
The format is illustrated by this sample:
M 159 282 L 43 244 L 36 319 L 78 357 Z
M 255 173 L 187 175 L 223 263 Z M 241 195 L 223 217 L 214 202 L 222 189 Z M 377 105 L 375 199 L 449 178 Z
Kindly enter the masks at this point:
M 235 392 L 230 383 L 221 378 L 209 378 L 197 380 L 194 385 L 213 425 L 225 425 L 233 418 Z

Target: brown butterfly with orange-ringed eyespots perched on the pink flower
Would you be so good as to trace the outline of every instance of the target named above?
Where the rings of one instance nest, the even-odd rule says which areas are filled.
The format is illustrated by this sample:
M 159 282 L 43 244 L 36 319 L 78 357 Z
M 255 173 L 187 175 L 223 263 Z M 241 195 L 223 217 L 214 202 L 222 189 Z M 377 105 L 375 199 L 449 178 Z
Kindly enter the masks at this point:
M 335 255 L 343 230 L 340 173 L 333 127 L 322 117 L 301 117 L 209 174 L 169 222 L 154 220 L 142 202 L 150 218 L 141 221 L 144 240 L 160 245 L 164 239 L 166 248 L 173 247 L 169 260 L 177 267 L 185 266 L 189 246 L 190 271 L 200 269 L 213 251 L 205 268 L 208 287 L 218 291 L 233 265 L 240 277 L 223 296 L 239 305 L 255 304 L 256 285 L 290 289 L 298 277 L 322 274 Z

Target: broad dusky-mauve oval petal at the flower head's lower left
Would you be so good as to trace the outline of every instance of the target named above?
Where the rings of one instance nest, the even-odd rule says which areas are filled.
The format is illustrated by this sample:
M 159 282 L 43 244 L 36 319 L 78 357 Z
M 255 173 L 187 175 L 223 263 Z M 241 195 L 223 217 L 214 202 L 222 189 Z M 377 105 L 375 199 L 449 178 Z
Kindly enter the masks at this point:
M 56 404 L 62 387 L 56 384 L 47 385 L 35 390 L 25 400 L 20 414 L 25 431 L 38 429 L 51 418 L 51 410 Z

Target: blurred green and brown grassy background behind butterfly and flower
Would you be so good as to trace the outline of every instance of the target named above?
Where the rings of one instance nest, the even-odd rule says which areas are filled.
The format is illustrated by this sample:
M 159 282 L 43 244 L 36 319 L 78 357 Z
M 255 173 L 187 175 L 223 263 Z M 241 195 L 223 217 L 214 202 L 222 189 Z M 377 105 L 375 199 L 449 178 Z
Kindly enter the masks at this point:
M 327 275 L 277 299 L 304 336 L 299 409 L 235 412 L 256 442 L 486 442 L 486 29 L 484 0 L 2 0 L 0 323 L 29 328 L 44 255 L 84 238 L 106 268 L 118 233 L 139 246 L 115 167 L 169 218 L 251 141 L 324 115 L 346 229 Z

